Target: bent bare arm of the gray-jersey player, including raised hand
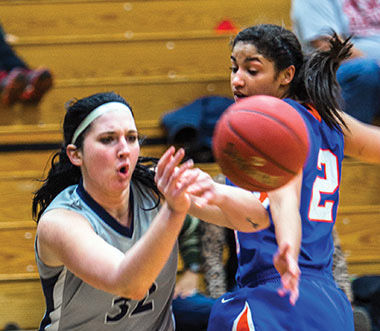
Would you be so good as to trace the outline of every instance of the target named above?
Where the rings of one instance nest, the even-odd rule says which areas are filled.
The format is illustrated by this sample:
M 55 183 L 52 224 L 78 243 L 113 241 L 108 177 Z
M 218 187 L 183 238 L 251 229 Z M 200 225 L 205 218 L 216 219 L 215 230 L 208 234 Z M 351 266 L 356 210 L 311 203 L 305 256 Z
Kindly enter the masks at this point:
M 190 207 L 186 193 L 192 183 L 179 181 L 191 162 L 178 167 L 183 150 L 165 154 L 166 168 L 156 175 L 165 203 L 147 232 L 126 253 L 99 237 L 78 213 L 55 209 L 37 228 L 38 253 L 50 266 L 65 265 L 91 286 L 131 299 L 142 299 L 170 256 Z

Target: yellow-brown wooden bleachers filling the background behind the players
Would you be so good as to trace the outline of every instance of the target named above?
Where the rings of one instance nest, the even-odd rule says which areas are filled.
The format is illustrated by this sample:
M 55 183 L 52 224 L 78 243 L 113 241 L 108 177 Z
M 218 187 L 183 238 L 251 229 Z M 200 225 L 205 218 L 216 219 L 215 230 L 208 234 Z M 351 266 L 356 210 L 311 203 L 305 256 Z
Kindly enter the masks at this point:
M 205 95 L 230 96 L 231 33 L 215 27 L 223 20 L 238 29 L 263 22 L 290 27 L 289 8 L 290 0 L 0 0 L 1 23 L 18 38 L 17 53 L 32 67 L 49 67 L 55 78 L 38 107 L 0 108 L 0 329 L 14 321 L 35 330 L 44 312 L 31 199 L 53 152 L 40 147 L 61 142 L 64 103 L 120 93 L 140 132 L 160 142 L 142 153 L 159 156 L 166 148 L 159 126 L 165 112 Z M 356 275 L 380 273 L 379 170 L 344 163 L 337 227 Z

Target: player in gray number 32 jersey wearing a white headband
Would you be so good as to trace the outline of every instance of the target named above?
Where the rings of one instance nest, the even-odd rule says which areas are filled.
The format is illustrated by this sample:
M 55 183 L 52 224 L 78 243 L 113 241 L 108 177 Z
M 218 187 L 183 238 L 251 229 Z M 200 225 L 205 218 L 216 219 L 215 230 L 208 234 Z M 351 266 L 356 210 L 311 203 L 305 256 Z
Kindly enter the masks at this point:
M 36 260 L 46 299 L 42 330 L 170 331 L 176 239 L 190 207 L 179 181 L 184 151 L 139 156 L 133 113 L 120 96 L 73 103 L 64 144 L 35 193 Z M 165 202 L 154 183 L 159 183 Z

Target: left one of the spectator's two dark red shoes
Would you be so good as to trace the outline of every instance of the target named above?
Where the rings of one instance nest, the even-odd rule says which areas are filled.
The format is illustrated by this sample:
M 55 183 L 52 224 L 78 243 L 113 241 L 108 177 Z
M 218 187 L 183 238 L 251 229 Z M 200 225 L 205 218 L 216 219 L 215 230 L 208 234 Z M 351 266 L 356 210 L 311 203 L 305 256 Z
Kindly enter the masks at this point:
M 5 106 L 10 106 L 20 100 L 27 85 L 24 69 L 11 70 L 0 82 L 0 101 Z

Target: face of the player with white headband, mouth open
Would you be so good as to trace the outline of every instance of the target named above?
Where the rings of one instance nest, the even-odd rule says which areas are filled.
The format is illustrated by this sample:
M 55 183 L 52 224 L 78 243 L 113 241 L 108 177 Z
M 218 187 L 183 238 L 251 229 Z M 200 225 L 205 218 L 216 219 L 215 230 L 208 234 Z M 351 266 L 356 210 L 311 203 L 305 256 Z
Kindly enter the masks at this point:
M 85 188 L 124 190 L 139 153 L 136 124 L 130 111 L 115 110 L 100 116 L 91 124 L 81 152 Z

